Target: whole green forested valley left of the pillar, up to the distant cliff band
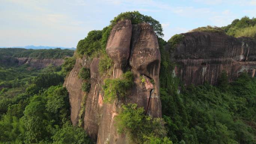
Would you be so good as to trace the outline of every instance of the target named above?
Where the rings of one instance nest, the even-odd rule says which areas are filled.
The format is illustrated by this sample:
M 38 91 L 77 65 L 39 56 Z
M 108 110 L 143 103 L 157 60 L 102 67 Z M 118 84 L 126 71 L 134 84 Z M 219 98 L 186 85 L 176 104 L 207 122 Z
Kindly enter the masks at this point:
M 6 52 L 16 50 L 20 49 Z M 41 70 L 28 65 L 1 67 L 1 144 L 92 144 L 86 132 L 70 122 L 68 92 L 63 82 L 74 63 L 70 57 L 61 67 L 50 65 Z

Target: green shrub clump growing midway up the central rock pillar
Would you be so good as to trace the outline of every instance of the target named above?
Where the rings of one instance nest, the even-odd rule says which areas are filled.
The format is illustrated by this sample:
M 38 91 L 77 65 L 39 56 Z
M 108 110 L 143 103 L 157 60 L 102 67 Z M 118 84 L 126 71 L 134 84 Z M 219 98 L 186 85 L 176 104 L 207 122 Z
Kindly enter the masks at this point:
M 122 79 L 104 80 L 104 102 L 113 102 L 117 98 L 124 98 L 133 84 L 133 74 L 127 71 L 122 75 Z

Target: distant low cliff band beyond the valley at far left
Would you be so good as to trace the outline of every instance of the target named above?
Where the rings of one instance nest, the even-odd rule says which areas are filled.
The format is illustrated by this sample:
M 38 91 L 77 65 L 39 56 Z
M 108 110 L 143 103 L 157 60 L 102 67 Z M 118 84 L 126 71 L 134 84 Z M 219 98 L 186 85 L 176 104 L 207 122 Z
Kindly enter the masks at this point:
M 52 64 L 55 66 L 60 66 L 63 64 L 64 59 L 34 59 L 34 58 L 17 58 L 18 65 L 28 64 L 35 68 L 45 68 Z

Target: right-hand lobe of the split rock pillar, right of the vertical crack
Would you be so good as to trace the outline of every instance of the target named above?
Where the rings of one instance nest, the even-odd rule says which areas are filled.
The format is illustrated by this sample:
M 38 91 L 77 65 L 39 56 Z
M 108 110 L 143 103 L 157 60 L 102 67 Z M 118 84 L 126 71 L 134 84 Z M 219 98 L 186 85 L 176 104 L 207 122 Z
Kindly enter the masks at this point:
M 149 24 L 132 25 L 131 56 L 129 64 L 135 75 L 135 83 L 140 82 L 144 74 L 154 80 L 154 91 L 149 96 L 147 91 L 132 90 L 132 101 L 145 111 L 151 111 L 153 117 L 161 117 L 161 101 L 159 98 L 160 50 L 158 40 Z M 137 84 L 138 85 L 138 84 Z M 150 97 L 150 100 L 149 100 Z

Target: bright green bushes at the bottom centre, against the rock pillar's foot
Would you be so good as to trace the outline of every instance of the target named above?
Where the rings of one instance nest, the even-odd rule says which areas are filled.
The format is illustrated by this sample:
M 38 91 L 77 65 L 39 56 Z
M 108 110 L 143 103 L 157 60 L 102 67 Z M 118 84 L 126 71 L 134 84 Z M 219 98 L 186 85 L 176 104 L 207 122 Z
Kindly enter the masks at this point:
M 133 144 L 172 144 L 165 137 L 164 121 L 145 115 L 144 108 L 137 104 L 122 105 L 115 122 L 119 134 L 129 135 Z

